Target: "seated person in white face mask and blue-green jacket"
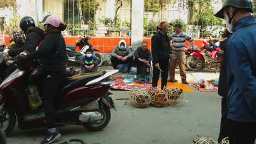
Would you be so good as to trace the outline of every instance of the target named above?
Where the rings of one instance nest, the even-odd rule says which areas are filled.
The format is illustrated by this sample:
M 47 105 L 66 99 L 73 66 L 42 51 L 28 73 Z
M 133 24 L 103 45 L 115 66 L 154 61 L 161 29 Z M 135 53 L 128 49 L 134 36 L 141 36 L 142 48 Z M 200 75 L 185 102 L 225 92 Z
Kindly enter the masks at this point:
M 90 48 L 87 49 L 85 51 L 85 55 L 80 59 L 81 73 L 96 72 L 98 69 L 98 63 L 100 63 L 100 61 L 94 55 L 94 51 Z

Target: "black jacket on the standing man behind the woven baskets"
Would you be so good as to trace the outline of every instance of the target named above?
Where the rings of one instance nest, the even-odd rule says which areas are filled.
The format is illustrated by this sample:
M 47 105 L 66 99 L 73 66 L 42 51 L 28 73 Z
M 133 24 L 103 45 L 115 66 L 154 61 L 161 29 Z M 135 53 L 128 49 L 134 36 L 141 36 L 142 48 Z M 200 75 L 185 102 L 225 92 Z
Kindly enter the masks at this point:
M 167 34 L 160 31 L 151 38 L 153 64 L 158 63 L 161 59 L 169 58 L 171 54 L 170 38 Z

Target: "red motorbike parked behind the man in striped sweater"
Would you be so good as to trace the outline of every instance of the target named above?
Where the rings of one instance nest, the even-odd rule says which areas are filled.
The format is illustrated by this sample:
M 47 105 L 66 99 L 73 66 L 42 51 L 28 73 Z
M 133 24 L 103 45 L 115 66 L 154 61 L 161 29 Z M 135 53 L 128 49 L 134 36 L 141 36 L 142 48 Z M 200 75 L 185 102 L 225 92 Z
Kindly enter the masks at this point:
M 199 71 L 202 68 L 220 69 L 222 57 L 218 57 L 218 40 L 214 40 L 212 47 L 206 47 L 201 51 L 190 53 L 187 58 L 186 65 L 189 70 Z

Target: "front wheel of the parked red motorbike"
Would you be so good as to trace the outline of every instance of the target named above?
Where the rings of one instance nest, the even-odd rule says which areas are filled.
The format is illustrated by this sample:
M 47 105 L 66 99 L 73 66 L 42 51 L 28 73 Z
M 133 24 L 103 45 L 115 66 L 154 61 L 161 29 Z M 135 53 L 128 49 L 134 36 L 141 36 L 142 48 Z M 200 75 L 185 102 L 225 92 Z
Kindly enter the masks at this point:
M 196 56 L 189 56 L 187 58 L 186 65 L 189 70 L 199 71 L 203 67 L 203 59 L 197 59 Z

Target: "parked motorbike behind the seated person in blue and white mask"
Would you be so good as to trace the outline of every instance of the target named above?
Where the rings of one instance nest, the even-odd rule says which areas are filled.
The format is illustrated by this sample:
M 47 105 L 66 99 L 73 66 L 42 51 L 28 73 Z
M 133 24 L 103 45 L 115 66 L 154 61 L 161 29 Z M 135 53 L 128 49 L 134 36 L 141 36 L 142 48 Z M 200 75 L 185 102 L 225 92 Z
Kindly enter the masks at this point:
M 80 58 L 85 55 L 85 51 L 91 48 L 94 51 L 95 56 L 100 60 L 98 67 L 100 67 L 103 63 L 103 57 L 100 53 L 100 50 L 92 47 L 92 45 L 88 42 L 91 37 L 88 35 L 84 35 L 82 39 L 77 40 L 75 46 L 67 45 L 66 50 L 68 54 L 68 63 L 79 64 Z M 75 47 L 78 46 L 80 51 L 75 51 Z

